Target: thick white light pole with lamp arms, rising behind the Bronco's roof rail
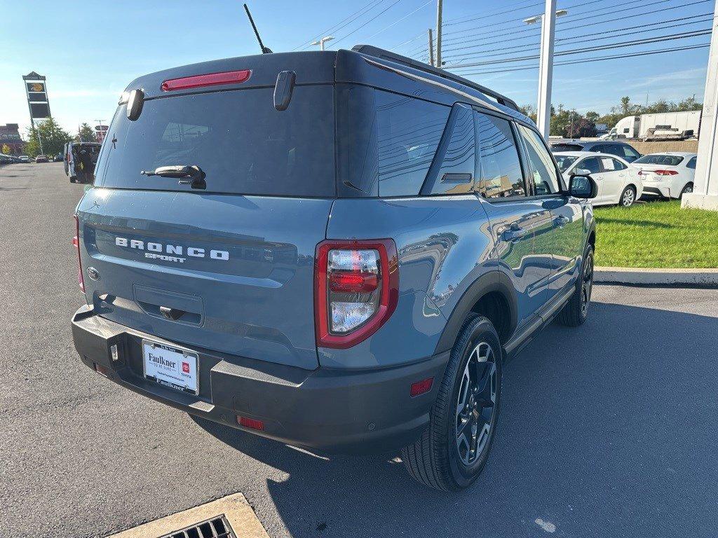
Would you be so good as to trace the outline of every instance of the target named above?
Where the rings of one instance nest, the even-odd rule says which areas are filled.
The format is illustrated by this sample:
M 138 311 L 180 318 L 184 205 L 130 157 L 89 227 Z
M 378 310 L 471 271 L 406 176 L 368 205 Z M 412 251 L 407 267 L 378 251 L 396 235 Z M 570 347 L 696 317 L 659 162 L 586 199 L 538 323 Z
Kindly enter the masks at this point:
M 538 131 L 549 139 L 551 131 L 551 82 L 554 76 L 554 34 L 556 33 L 556 17 L 568 11 L 556 11 L 556 0 L 546 0 L 544 14 L 524 19 L 526 24 L 541 21 L 541 53 L 538 60 L 538 105 L 536 106 L 536 126 Z

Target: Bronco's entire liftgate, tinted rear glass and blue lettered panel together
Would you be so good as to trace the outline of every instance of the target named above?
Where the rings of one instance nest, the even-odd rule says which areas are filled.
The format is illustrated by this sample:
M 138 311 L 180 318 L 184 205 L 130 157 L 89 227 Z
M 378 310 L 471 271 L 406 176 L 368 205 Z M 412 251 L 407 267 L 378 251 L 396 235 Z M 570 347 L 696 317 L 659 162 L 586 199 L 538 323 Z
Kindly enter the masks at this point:
M 160 92 L 136 121 L 120 105 L 78 205 L 85 291 L 101 316 L 158 338 L 314 369 L 314 250 L 336 194 L 333 85 L 297 85 L 279 111 L 256 81 Z M 141 173 L 177 165 L 199 167 L 204 185 Z

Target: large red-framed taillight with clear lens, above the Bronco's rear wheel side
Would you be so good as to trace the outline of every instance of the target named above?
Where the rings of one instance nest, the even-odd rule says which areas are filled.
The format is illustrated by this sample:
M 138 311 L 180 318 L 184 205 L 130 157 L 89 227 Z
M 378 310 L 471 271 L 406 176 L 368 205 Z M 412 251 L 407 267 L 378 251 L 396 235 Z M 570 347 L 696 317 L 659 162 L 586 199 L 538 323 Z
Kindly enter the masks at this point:
M 314 274 L 317 346 L 348 348 L 374 334 L 396 309 L 398 288 L 393 240 L 321 242 Z

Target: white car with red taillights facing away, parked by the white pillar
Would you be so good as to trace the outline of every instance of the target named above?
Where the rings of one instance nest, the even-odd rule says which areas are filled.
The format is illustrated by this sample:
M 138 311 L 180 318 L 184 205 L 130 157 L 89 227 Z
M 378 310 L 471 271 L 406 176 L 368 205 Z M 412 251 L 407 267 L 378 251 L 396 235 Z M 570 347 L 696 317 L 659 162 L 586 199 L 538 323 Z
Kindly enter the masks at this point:
M 633 161 L 640 179 L 643 179 L 643 194 L 681 198 L 686 192 L 693 192 L 696 159 L 696 154 L 685 151 L 666 151 L 644 155 Z

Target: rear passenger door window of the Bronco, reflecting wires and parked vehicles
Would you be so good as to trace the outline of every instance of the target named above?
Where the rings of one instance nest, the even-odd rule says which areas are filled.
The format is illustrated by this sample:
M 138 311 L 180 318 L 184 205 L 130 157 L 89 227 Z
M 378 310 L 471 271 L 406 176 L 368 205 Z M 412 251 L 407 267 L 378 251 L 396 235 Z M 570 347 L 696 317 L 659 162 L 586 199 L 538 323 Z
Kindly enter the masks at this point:
M 526 196 L 516 140 L 508 121 L 474 113 L 479 143 L 476 190 L 486 198 Z

